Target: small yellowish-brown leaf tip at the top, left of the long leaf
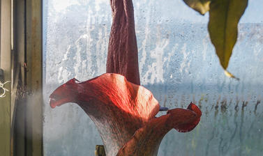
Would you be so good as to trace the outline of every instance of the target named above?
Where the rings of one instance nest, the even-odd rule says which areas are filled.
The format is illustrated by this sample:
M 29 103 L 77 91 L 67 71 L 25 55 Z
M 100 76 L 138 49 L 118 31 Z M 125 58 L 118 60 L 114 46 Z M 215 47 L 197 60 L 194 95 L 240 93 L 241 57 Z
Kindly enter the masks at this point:
M 190 8 L 193 8 L 200 14 L 204 15 L 209 11 L 211 0 L 183 0 Z

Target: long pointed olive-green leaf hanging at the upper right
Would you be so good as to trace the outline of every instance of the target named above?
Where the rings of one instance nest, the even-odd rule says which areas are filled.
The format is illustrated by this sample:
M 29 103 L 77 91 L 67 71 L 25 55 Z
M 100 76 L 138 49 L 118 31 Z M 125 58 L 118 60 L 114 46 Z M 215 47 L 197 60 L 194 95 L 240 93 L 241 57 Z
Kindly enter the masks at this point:
M 209 34 L 220 64 L 226 70 L 236 44 L 237 24 L 248 0 L 213 0 L 209 10 Z

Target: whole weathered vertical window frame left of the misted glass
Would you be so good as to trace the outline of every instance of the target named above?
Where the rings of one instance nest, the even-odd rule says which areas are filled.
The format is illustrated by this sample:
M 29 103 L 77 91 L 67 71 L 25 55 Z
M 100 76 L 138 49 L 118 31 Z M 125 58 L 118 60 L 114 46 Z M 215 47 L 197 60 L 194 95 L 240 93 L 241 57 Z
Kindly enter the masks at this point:
M 1 0 L 1 155 L 43 155 L 42 0 Z

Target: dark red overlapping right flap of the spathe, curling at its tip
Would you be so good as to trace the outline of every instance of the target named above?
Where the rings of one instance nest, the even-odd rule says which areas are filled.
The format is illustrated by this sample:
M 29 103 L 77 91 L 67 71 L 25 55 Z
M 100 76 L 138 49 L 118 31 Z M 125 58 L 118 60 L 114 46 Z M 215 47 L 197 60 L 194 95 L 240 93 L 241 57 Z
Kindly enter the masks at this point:
M 167 115 L 153 118 L 135 132 L 133 138 L 119 150 L 117 156 L 156 156 L 160 142 L 172 128 L 176 128 L 176 130 L 181 130 L 181 128 L 190 130 L 189 128 L 192 128 L 193 130 L 192 125 L 197 121 L 197 118 L 200 118 L 200 115 L 195 111 L 199 113 L 200 109 L 191 103 L 188 109 L 171 109 Z

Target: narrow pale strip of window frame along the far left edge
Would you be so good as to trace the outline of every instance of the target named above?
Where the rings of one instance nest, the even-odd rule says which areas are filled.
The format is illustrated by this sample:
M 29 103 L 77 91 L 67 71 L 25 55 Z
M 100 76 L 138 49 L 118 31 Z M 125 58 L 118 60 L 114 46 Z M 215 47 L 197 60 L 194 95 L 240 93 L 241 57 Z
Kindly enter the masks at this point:
M 11 75 L 11 1 L 0 1 L 0 68 L 3 70 L 4 79 L 10 80 Z M 5 88 L 10 91 L 10 84 Z M 10 155 L 10 92 L 6 93 L 5 98 L 0 98 L 0 153 L 1 155 Z

